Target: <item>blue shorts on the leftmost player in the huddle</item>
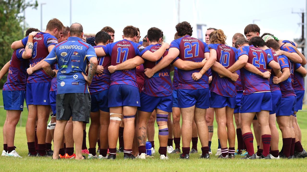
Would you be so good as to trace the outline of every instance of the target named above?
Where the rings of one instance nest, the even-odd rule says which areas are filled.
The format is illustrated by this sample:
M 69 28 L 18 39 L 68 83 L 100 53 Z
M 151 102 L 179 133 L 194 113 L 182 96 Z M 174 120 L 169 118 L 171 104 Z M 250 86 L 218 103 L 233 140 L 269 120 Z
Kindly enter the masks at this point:
M 3 106 L 5 110 L 23 111 L 25 91 L 2 91 Z

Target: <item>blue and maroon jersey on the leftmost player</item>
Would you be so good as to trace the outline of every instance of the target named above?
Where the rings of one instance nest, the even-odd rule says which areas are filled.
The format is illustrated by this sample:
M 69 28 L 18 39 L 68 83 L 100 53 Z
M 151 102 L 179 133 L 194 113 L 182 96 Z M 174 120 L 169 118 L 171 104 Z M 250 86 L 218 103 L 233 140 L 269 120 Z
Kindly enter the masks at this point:
M 22 58 L 24 51 L 24 48 L 14 50 L 10 61 L 9 73 L 7 74 L 7 81 L 3 85 L 3 91 L 25 90 L 29 59 Z

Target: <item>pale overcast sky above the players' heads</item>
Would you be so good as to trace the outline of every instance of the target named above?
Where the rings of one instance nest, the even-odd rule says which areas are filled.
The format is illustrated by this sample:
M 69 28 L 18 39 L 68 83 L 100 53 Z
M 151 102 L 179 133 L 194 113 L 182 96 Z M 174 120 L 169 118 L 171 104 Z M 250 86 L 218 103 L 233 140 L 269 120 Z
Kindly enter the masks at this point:
M 37 2 L 37 9 L 25 10 L 28 27 L 45 31 L 52 18 L 59 19 L 65 26 L 71 24 L 69 0 Z M 41 3 L 46 3 L 42 6 L 43 28 Z M 196 24 L 206 24 L 222 29 L 227 36 L 226 43 L 231 46 L 232 36 L 237 32 L 244 34 L 245 26 L 253 22 L 260 27 L 260 36 L 269 32 L 279 39 L 300 38 L 301 15 L 292 12 L 305 11 L 305 3 L 304 0 L 180 0 L 178 16 L 178 0 L 72 0 L 72 23 L 82 24 L 86 34 L 95 34 L 104 26 L 110 26 L 115 30 L 115 41 L 122 39 L 122 29 L 127 25 L 140 28 L 142 38 L 149 28 L 157 27 L 163 31 L 164 41 L 170 43 L 178 21 L 188 21 L 193 26 L 192 36 L 197 38 Z

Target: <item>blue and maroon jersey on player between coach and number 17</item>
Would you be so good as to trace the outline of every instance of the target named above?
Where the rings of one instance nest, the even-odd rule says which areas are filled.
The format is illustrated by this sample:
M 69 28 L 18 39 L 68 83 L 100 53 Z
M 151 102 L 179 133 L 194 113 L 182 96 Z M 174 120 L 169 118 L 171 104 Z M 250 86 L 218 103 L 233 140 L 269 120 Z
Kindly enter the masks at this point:
M 102 45 L 94 46 L 94 48 L 103 47 Z M 103 73 L 95 73 L 91 85 L 88 86 L 90 94 L 102 92 L 103 90 L 109 89 L 111 81 L 111 73 L 108 67 L 111 65 L 111 57 L 109 55 L 103 57 L 97 57 L 98 65 L 103 66 Z

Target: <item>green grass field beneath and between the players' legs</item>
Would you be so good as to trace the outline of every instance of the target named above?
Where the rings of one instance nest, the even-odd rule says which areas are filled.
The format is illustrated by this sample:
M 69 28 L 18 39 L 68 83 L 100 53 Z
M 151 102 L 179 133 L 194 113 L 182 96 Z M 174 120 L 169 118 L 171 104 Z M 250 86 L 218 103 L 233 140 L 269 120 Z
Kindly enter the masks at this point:
M 2 92 L 0 93 L 2 97 Z M 0 106 L 3 106 L 2 98 Z M 304 108 L 304 109 L 307 109 Z M 20 158 L 0 157 L 0 171 L 306 171 L 307 159 L 279 159 L 279 160 L 240 160 L 241 156 L 235 159 L 217 159 L 215 157 L 217 148 L 216 122 L 214 122 L 214 136 L 212 138 L 212 152 L 214 155 L 210 159 L 198 159 L 199 154 L 190 155 L 190 160 L 178 159 L 178 154 L 170 154 L 169 160 L 161 161 L 158 153 L 153 158 L 146 160 L 123 160 L 123 154 L 120 153 L 115 161 L 111 160 L 51 160 L 51 158 L 27 157 L 27 140 L 25 135 L 25 122 L 27 119 L 27 109 L 24 108 L 21 117 L 21 127 L 18 123 L 15 135 L 15 146 L 17 152 L 23 156 Z M 5 121 L 6 111 L 0 108 L 0 130 L 2 130 Z M 302 144 L 307 148 L 307 112 L 299 112 L 297 114 L 298 122 L 302 130 Z M 87 125 L 88 129 L 89 125 Z M 156 131 L 157 131 L 156 126 Z M 159 148 L 155 135 L 155 147 Z M 279 140 L 279 148 L 282 147 L 281 133 Z M 256 150 L 256 141 L 254 146 Z M 0 136 L 0 145 L 3 144 L 2 134 Z M 88 145 L 88 140 L 87 140 Z M 200 150 L 200 142 L 198 148 Z M 235 146 L 237 147 L 237 146 Z M 201 153 L 201 151 L 200 151 Z

